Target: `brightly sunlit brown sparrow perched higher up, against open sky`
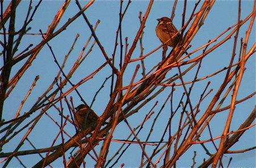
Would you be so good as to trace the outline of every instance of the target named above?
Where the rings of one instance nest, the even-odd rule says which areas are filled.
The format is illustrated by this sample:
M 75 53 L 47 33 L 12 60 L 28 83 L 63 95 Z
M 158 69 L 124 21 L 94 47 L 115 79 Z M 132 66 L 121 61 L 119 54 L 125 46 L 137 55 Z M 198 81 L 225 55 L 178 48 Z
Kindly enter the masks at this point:
M 180 33 L 177 33 L 178 31 L 174 24 L 172 24 L 172 20 L 167 17 L 163 17 L 156 20 L 158 20 L 158 25 L 155 28 L 156 36 L 158 36 L 159 40 L 163 44 L 166 43 L 166 41 L 168 41 L 169 39 L 171 39 L 166 43 L 166 45 L 170 47 L 175 47 L 175 45 L 179 42 L 181 35 Z M 188 54 L 184 48 L 183 50 L 186 54 Z

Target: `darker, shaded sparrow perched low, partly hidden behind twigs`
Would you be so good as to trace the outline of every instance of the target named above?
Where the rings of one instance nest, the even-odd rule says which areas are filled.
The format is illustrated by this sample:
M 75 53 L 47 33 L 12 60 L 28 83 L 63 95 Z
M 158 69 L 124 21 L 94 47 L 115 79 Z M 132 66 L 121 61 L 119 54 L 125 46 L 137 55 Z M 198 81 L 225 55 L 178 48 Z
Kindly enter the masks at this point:
M 79 129 L 85 130 L 98 122 L 99 117 L 87 104 L 80 104 L 75 110 L 75 123 Z

